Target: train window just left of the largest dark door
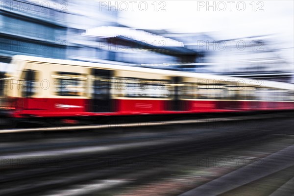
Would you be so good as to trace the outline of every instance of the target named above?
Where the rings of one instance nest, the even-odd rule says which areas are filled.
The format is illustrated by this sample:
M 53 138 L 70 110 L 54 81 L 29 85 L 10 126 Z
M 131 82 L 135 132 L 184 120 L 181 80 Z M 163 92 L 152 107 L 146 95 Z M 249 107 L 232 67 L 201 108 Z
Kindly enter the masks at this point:
M 87 77 L 80 73 L 56 72 L 55 93 L 58 96 L 84 96 Z

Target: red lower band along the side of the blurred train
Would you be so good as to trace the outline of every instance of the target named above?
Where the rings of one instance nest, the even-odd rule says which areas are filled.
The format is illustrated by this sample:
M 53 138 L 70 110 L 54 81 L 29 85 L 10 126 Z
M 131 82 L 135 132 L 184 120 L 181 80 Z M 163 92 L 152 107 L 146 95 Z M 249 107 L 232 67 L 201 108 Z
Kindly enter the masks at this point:
M 187 114 L 207 112 L 243 112 L 264 110 L 293 110 L 293 101 L 260 100 L 156 100 L 111 99 L 108 111 L 95 112 L 90 99 L 64 98 L 13 98 L 9 116 L 78 117 L 113 115 Z

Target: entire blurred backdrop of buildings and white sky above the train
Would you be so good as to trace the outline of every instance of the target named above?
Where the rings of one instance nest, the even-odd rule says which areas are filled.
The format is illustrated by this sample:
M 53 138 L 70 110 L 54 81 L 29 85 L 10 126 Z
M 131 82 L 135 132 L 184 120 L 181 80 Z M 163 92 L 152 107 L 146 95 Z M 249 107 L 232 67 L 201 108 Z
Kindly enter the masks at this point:
M 16 54 L 294 82 L 293 1 L 1 0 Z

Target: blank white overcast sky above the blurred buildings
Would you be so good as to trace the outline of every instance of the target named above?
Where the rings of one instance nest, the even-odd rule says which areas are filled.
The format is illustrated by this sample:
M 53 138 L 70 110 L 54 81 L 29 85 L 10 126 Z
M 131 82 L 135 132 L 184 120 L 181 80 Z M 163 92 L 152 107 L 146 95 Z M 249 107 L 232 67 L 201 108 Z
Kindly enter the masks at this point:
M 293 48 L 294 1 L 255 0 L 253 3 L 252 1 L 244 0 L 246 6 L 244 8 L 244 3 L 239 0 L 233 3 L 229 0 L 222 2 L 210 0 L 210 5 L 215 3 L 215 6 L 211 7 L 207 7 L 206 0 L 165 0 L 163 2 L 159 0 L 156 1 L 156 7 L 154 7 L 154 0 L 146 0 L 148 6 L 146 9 L 146 3 L 141 3 L 139 7 L 140 1 L 132 4 L 126 0 L 128 8 L 120 12 L 119 22 L 143 29 L 213 32 L 214 38 L 219 40 L 276 34 L 276 39 L 283 45 L 282 47 Z M 119 7 L 125 9 L 125 5 L 120 4 L 121 1 L 117 2 Z M 160 8 L 165 11 L 159 11 Z M 143 11 L 145 9 L 146 11 Z M 291 58 L 293 59 L 293 55 Z

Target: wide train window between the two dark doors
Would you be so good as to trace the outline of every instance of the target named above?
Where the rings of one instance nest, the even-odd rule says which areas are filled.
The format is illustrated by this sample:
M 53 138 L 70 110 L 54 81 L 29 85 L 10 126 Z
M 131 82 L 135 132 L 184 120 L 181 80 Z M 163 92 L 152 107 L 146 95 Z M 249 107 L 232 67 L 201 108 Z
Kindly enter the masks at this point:
M 126 98 L 169 98 L 167 80 L 142 80 L 139 78 L 116 78 L 116 96 Z

